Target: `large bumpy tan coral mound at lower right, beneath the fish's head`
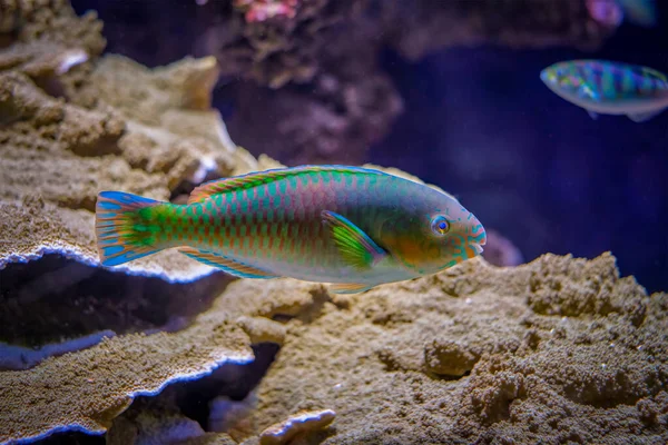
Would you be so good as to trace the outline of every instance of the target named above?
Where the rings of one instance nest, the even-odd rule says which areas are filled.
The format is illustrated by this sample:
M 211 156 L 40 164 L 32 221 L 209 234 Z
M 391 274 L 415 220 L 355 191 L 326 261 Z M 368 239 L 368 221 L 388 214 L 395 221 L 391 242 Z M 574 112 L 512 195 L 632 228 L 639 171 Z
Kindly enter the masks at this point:
M 536 285 L 557 279 L 562 294 Z M 590 303 L 533 310 L 556 295 Z M 667 301 L 620 278 L 609 254 L 514 268 L 471 260 L 325 299 L 286 322 L 256 389 L 257 431 L 333 409 L 336 428 L 304 443 L 665 442 Z

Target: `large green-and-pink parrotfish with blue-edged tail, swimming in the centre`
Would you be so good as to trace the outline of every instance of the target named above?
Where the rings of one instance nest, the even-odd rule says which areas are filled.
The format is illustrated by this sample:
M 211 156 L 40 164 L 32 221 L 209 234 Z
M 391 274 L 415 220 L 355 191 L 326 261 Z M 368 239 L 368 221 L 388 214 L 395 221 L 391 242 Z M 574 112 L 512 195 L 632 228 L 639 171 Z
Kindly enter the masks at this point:
M 107 267 L 177 248 L 236 277 L 292 277 L 338 294 L 435 274 L 479 256 L 487 241 L 454 197 L 353 166 L 217 179 L 183 205 L 100 191 L 96 236 Z

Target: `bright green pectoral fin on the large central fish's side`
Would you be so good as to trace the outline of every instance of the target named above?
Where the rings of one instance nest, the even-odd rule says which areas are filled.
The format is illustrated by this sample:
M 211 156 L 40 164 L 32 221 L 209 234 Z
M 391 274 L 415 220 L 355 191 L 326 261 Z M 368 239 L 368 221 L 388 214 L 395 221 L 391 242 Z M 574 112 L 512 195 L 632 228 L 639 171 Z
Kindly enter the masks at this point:
M 346 264 L 367 269 L 387 256 L 382 247 L 347 218 L 330 210 L 323 210 L 321 216 Z

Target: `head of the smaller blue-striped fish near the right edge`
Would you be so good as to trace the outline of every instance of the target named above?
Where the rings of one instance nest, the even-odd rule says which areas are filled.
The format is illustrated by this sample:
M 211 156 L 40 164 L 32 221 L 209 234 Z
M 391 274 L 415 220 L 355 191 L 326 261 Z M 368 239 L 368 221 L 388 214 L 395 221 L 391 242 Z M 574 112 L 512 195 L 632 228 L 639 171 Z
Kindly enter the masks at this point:
M 591 69 L 589 65 L 583 66 L 583 70 Z M 577 62 L 554 63 L 540 72 L 540 79 L 543 83 L 557 95 L 572 102 L 582 100 L 598 100 L 598 93 L 595 88 L 582 78 L 582 69 L 579 69 Z

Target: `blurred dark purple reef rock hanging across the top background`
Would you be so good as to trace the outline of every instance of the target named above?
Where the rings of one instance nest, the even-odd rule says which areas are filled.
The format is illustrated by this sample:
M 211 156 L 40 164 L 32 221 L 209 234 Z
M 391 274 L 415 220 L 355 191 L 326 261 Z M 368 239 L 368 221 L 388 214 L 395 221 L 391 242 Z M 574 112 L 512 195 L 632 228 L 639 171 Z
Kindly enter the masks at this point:
M 381 65 L 387 47 L 412 60 L 484 43 L 590 50 L 615 31 L 584 0 L 184 0 L 178 14 L 159 3 L 135 8 L 148 26 L 134 26 L 118 3 L 97 8 L 114 50 L 134 59 L 215 56 L 234 139 L 286 165 L 366 160 L 403 110 Z M 188 38 L 159 32 L 176 26 Z

